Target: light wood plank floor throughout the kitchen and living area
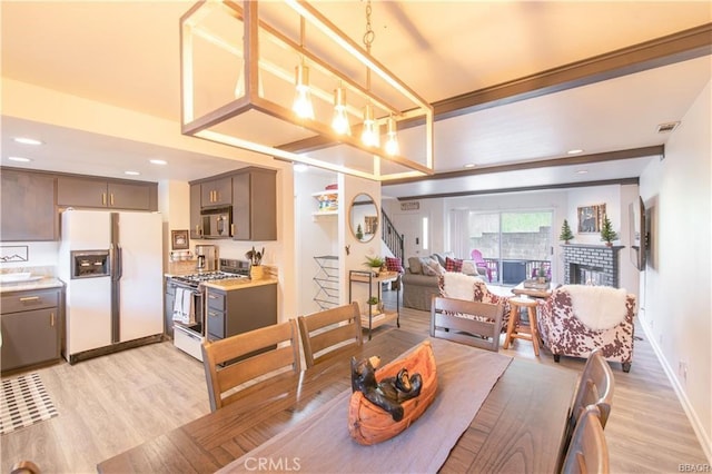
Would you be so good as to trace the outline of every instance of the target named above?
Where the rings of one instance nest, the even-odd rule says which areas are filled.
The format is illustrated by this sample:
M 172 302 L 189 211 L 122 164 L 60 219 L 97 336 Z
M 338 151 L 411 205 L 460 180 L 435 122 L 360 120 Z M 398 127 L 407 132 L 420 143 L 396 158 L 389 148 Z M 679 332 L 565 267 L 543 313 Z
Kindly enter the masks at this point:
M 429 314 L 404 308 L 400 323 L 403 329 L 427 334 Z M 374 337 L 384 330 L 388 326 Z M 546 350 L 535 357 L 524 340 L 502 352 L 562 371 L 583 367 L 583 361 L 566 357 L 554 364 Z M 20 460 L 31 460 L 47 473 L 96 472 L 97 463 L 210 411 L 202 365 L 171 343 L 36 372 L 59 416 L 1 436 L 2 473 Z M 614 374 L 605 429 L 612 472 L 674 473 L 679 464 L 709 462 L 645 340 L 635 342 L 631 372 L 624 374 L 616 364 Z

